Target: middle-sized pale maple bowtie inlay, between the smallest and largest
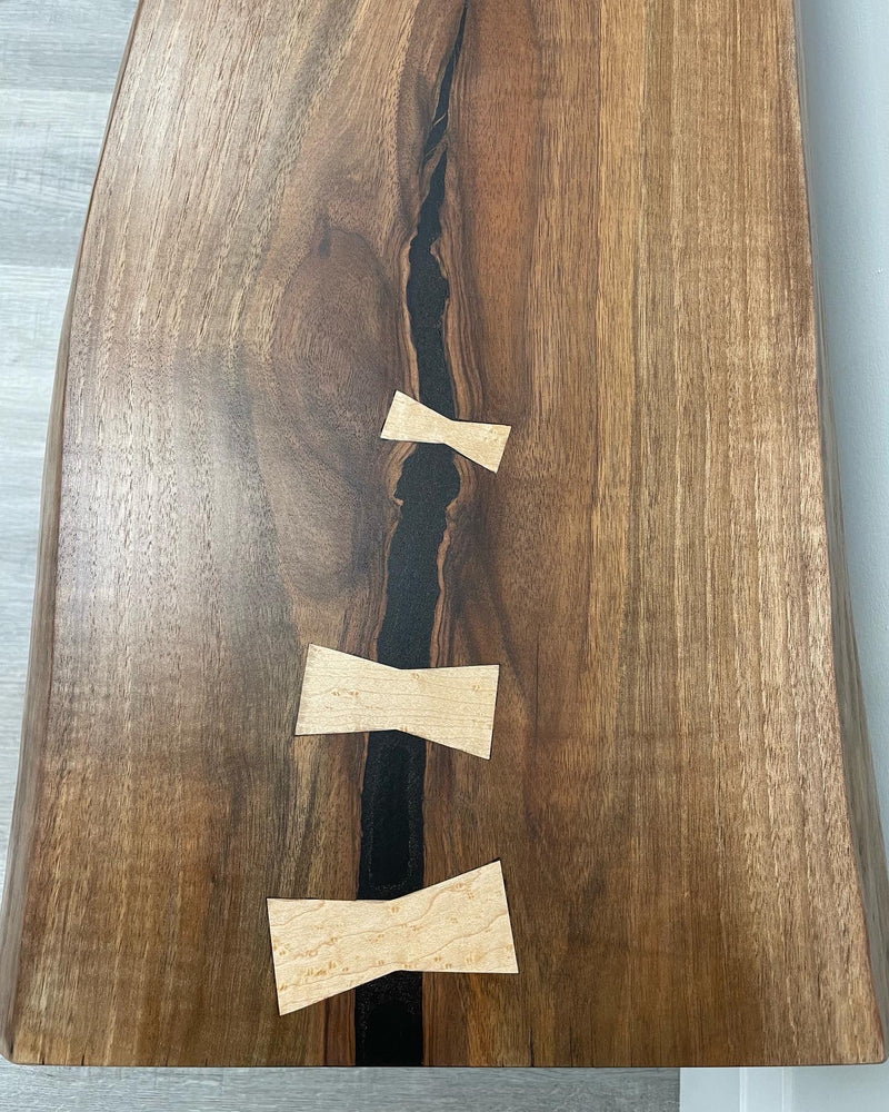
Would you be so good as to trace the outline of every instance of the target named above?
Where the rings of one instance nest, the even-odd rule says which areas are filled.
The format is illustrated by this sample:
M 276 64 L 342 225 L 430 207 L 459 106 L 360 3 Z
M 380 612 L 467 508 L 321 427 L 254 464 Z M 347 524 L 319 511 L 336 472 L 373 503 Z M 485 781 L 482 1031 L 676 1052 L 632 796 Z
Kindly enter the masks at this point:
M 498 665 L 391 668 L 309 645 L 297 735 L 401 729 L 486 759 Z

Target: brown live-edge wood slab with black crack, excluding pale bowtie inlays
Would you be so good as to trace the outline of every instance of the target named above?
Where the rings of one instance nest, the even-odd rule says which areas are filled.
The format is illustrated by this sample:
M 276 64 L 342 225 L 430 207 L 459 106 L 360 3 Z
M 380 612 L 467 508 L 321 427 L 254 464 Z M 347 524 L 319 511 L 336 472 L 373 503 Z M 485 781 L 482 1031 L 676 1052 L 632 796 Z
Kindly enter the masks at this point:
M 883 1056 L 796 82 L 791 0 L 143 0 L 49 435 L 7 1054 Z M 396 390 L 511 428 L 499 471 L 381 438 Z M 499 665 L 490 761 L 294 737 L 309 645 Z M 267 900 L 497 861 L 517 974 L 279 1015 Z

